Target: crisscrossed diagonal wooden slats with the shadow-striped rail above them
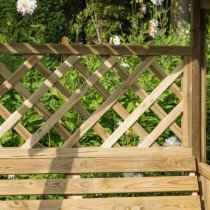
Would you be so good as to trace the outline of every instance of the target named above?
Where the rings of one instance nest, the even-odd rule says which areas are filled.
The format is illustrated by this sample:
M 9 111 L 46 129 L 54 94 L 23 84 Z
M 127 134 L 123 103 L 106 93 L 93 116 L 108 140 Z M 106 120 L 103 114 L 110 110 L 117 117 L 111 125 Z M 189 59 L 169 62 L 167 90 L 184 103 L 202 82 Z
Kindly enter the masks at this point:
M 139 63 L 132 73 L 128 74 L 128 72 L 121 65 L 121 57 L 131 54 L 147 54 L 145 53 L 145 49 L 136 47 L 132 48 L 132 46 L 124 46 L 124 48 L 122 48 L 123 46 L 101 46 L 100 48 L 83 46 L 83 48 L 78 47 L 78 49 L 76 49 L 68 46 L 69 51 L 67 53 L 67 47 L 62 46 L 62 53 L 60 52 L 60 45 L 48 45 L 48 48 L 46 49 L 48 49 L 49 52 L 47 52 L 45 48 L 35 49 L 34 46 L 28 44 L 24 46 L 25 48 L 23 48 L 23 46 L 21 47 L 22 48 L 18 48 L 19 50 L 17 50 L 15 49 L 15 46 L 4 46 L 6 51 L 9 50 L 13 53 L 28 55 L 25 55 L 25 62 L 16 71 L 14 71 L 14 73 L 12 73 L 3 63 L 0 64 L 0 73 L 5 79 L 0 86 L 0 98 L 2 98 L 11 89 L 15 89 L 15 91 L 25 98 L 23 104 L 12 114 L 2 103 L 0 104 L 0 115 L 3 119 L 5 119 L 0 126 L 0 138 L 2 138 L 10 129 L 15 129 L 16 132 L 25 140 L 25 143 L 21 146 L 21 148 L 34 147 L 52 128 L 54 128 L 62 139 L 65 140 L 61 147 L 80 147 L 81 145 L 79 140 L 90 129 L 93 129 L 103 140 L 101 147 L 104 148 L 119 146 L 118 140 L 130 128 L 132 128 L 134 132 L 143 140 L 139 145 L 140 147 L 157 145 L 155 141 L 167 128 L 170 128 L 170 130 L 180 140 L 183 141 L 183 138 L 185 138 L 185 134 L 183 134 L 183 130 L 185 130 L 185 117 L 183 118 L 183 125 L 181 127 L 175 121 L 179 116 L 182 115 L 185 109 L 184 107 L 187 104 L 185 96 L 189 94 L 187 79 L 185 79 L 185 77 L 187 78 L 187 75 L 184 77 L 182 76 L 183 72 L 187 74 L 187 62 L 189 62 L 187 56 L 184 57 L 183 62 L 178 64 L 177 67 L 167 75 L 164 70 L 156 64 L 156 59 L 158 58 L 158 55 L 161 55 L 161 53 L 159 51 L 154 53 L 154 49 L 151 49 L 151 55 L 144 57 L 142 62 Z M 180 49 L 182 48 L 179 48 L 179 50 Z M 187 54 L 186 49 L 183 48 L 182 51 L 180 50 L 178 55 Z M 28 52 L 28 50 L 31 50 L 34 55 L 29 55 L 32 54 L 32 52 Z M 107 52 L 108 50 L 109 52 Z M 91 72 L 81 62 L 80 58 L 83 55 L 81 51 L 83 51 L 84 54 L 90 54 L 91 51 L 92 54 L 101 57 L 103 62 L 95 72 Z M 42 53 L 43 55 L 39 55 Z M 53 72 L 48 70 L 42 63 L 42 58 L 46 53 L 65 55 L 64 62 Z M 109 53 L 111 55 L 108 56 Z M 173 54 L 173 52 L 171 54 Z M 31 71 L 32 68 L 35 68 L 45 78 L 43 84 L 33 93 L 27 90 L 27 88 L 24 87 L 24 85 L 20 82 L 21 78 L 27 72 Z M 70 71 L 71 68 L 74 68 L 83 78 L 85 78 L 84 84 L 82 84 L 73 94 L 70 94 L 69 90 L 59 82 L 60 78 L 62 78 L 67 71 Z M 101 78 L 110 69 L 122 80 L 121 84 L 119 84 L 113 93 L 110 93 L 109 90 L 107 90 L 100 83 Z M 148 71 L 148 69 L 150 69 L 154 75 L 161 80 L 160 84 L 150 94 L 148 94 L 137 82 L 137 79 L 141 77 L 143 73 Z M 178 77 L 184 79 L 183 91 L 181 91 L 181 88 L 175 83 L 175 80 Z M 52 87 L 57 89 L 65 101 L 55 113 L 50 113 L 49 110 L 45 108 L 42 103 L 40 103 L 40 98 Z M 103 103 L 92 114 L 90 114 L 80 104 L 81 99 L 90 90 L 90 88 L 94 88 L 104 98 Z M 170 113 L 166 113 L 156 101 L 161 94 L 163 94 L 169 88 L 179 99 L 179 103 Z M 132 113 L 126 111 L 126 109 L 119 102 L 120 97 L 128 89 L 131 89 L 141 100 L 141 103 Z M 21 118 L 32 108 L 43 116 L 45 120 L 41 127 L 38 128 L 38 130 L 33 134 L 31 134 L 21 124 Z M 70 133 L 60 123 L 60 120 L 72 108 L 74 108 L 85 121 L 76 129 L 75 132 Z M 106 128 L 99 123 L 101 117 L 103 117 L 110 109 L 113 109 L 124 120 L 122 124 L 112 133 L 109 133 Z M 148 133 L 138 122 L 138 119 L 148 109 L 151 109 L 160 119 L 159 125 L 151 133 Z M 187 145 L 187 143 L 183 142 L 183 145 Z

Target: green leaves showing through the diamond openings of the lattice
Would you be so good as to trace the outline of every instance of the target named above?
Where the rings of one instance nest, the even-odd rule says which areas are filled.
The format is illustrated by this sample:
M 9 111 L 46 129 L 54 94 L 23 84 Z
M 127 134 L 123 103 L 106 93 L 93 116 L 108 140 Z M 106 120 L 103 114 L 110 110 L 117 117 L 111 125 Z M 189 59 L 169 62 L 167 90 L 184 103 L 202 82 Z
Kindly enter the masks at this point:
M 4 62 L 9 69 L 15 71 L 15 66 L 19 67 L 23 62 L 22 56 L 10 56 L 8 62 L 8 55 L 2 55 L 0 61 Z M 6 62 L 5 62 L 6 61 Z M 63 62 L 63 58 L 60 56 L 50 56 L 47 55 L 42 59 L 42 62 L 50 69 L 54 71 L 60 64 Z M 88 77 L 91 76 L 92 72 L 95 72 L 98 67 L 103 63 L 103 59 L 98 56 L 83 56 L 80 59 L 80 62 L 88 69 Z M 168 74 L 170 73 L 180 62 L 179 57 L 166 57 L 162 56 L 157 59 L 157 64 L 164 69 Z M 125 56 L 119 61 L 121 66 L 124 66 L 125 71 L 128 74 L 131 74 L 137 66 L 141 63 L 141 59 L 137 56 Z M 1 79 L 2 82 L 4 79 Z M 81 87 L 85 78 L 81 76 L 78 71 L 74 68 L 71 68 L 67 73 L 59 80 L 59 82 L 69 91 L 70 94 L 73 94 L 79 87 Z M 21 78 L 21 83 L 31 92 L 36 91 L 44 81 L 44 77 L 38 73 L 36 69 L 32 69 L 27 74 Z M 108 71 L 100 83 L 110 94 L 115 92 L 115 90 L 121 85 L 122 79 L 119 75 L 114 73 L 112 70 Z M 148 70 L 138 79 L 138 84 L 149 94 L 152 92 L 155 87 L 160 84 L 160 80 Z M 177 81 L 177 84 L 180 86 L 180 81 Z M 55 113 L 65 102 L 65 97 L 62 96 L 56 88 L 51 88 L 47 91 L 40 99 L 40 103 L 50 112 Z M 89 112 L 93 113 L 97 108 L 100 107 L 104 102 L 104 98 L 95 90 L 91 88 L 84 97 L 80 100 L 81 105 Z M 12 113 L 23 103 L 24 98 L 16 91 L 9 91 L 2 99 L 1 103 Z M 127 90 L 119 99 L 121 105 L 129 112 L 132 113 L 136 107 L 142 102 L 141 99 L 136 95 L 136 93 L 129 89 Z M 179 100 L 175 95 L 167 91 L 161 95 L 157 103 L 169 113 L 173 107 L 178 104 Z M 115 111 L 110 109 L 106 114 L 99 120 L 99 123 L 106 129 L 106 131 L 111 134 L 117 127 L 118 123 L 123 121 Z M 146 111 L 142 115 L 138 122 L 142 127 L 150 133 L 159 123 L 159 118 L 152 112 Z M 3 122 L 3 120 L 1 120 Z M 39 129 L 45 119 L 33 108 L 29 110 L 21 119 L 21 123 L 30 133 L 35 133 Z M 70 133 L 73 133 L 77 130 L 80 125 L 84 122 L 84 119 L 75 111 L 70 109 L 59 121 Z M 177 121 L 179 123 L 179 119 Z M 158 142 L 162 144 L 164 140 L 170 136 L 174 135 L 170 130 L 167 130 L 159 139 Z M 125 135 L 119 139 L 119 144 L 122 146 L 136 146 L 138 144 L 139 137 L 133 129 L 129 129 Z M 64 142 L 62 135 L 60 136 L 58 132 L 52 129 L 48 134 L 46 134 L 40 143 L 45 147 L 58 147 L 61 146 Z M 100 146 L 103 140 L 99 137 L 94 130 L 89 130 L 81 139 L 80 144 L 83 146 Z M 19 137 L 15 131 L 9 131 L 1 138 L 1 143 L 4 146 L 20 146 L 24 143 L 24 140 Z

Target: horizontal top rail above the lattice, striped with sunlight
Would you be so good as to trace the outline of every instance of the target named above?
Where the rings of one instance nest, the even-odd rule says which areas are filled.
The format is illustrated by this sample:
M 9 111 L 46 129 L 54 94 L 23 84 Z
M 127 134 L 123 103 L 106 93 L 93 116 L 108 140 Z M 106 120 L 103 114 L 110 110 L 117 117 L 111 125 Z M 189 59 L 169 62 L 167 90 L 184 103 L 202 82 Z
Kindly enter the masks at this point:
M 61 54 L 61 55 L 192 55 L 190 47 L 140 46 L 140 45 L 63 45 L 1 43 L 0 53 L 13 54 Z

